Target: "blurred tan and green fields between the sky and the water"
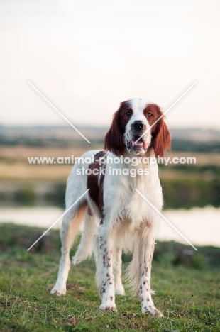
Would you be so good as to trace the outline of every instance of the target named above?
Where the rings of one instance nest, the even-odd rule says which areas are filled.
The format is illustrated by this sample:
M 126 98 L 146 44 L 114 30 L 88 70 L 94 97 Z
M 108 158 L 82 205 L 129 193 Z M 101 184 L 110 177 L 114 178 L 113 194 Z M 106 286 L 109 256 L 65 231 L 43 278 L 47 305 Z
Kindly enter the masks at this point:
M 80 130 L 91 144 L 77 137 L 71 127 L 0 127 L 0 206 L 63 207 L 72 165 L 30 165 L 28 157 L 79 157 L 88 149 L 103 148 L 107 128 Z M 164 208 L 219 207 L 220 133 L 192 129 L 171 132 L 172 150 L 165 157 L 196 157 L 197 163 L 160 164 Z

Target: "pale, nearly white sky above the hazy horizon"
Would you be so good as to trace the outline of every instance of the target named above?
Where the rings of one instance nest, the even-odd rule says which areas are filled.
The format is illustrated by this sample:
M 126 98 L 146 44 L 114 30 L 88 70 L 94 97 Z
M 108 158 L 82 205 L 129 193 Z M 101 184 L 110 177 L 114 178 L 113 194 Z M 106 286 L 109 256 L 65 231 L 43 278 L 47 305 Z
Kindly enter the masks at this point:
M 220 129 L 218 0 L 0 0 L 0 125 L 109 126 L 145 98 Z M 67 124 L 69 126 L 69 124 Z

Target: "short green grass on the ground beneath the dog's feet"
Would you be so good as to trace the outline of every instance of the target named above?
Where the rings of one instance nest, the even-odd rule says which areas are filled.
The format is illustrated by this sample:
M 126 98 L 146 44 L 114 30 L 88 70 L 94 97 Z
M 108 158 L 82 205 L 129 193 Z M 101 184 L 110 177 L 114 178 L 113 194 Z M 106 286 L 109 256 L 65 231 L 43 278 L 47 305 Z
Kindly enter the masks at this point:
M 51 231 L 47 243 L 27 252 L 38 234 L 39 228 L 0 227 L 0 331 L 220 331 L 220 270 L 154 261 L 153 299 L 163 319 L 141 314 L 140 301 L 128 289 L 126 297 L 116 296 L 118 312 L 102 312 L 94 260 L 72 267 L 65 297 L 50 294 L 60 260 L 59 237 Z

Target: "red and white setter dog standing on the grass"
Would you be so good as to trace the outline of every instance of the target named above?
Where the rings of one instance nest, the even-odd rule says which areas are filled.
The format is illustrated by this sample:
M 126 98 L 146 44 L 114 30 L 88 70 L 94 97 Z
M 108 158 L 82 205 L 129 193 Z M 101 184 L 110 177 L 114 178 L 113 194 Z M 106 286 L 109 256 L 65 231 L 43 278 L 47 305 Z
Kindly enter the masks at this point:
M 150 162 L 150 157 L 163 157 L 163 151 L 170 148 L 170 132 L 162 115 L 156 104 L 145 99 L 123 101 L 106 133 L 105 150 L 84 153 L 72 168 L 66 209 L 89 191 L 63 218 L 60 269 L 51 293 L 66 292 L 70 248 L 81 231 L 72 262 L 76 265 L 94 252 L 100 309 L 116 311 L 115 294 L 125 294 L 121 282 L 121 253 L 125 250 L 133 254 L 127 277 L 141 299 L 142 312 L 163 316 L 153 304 L 150 289 L 155 227 L 160 216 L 135 190 L 161 211 L 158 164 Z

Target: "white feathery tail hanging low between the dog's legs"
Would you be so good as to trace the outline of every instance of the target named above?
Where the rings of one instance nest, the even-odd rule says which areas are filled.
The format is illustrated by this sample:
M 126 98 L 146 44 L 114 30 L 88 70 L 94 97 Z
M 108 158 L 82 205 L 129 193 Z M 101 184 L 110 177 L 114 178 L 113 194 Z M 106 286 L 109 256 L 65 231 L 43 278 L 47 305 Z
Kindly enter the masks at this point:
M 79 262 L 82 262 L 82 260 L 92 256 L 93 239 L 94 235 L 97 233 L 98 226 L 99 218 L 94 216 L 89 206 L 87 206 L 87 210 L 84 214 L 84 228 L 82 231 L 81 242 L 77 248 L 77 252 L 72 258 L 73 265 L 77 265 Z

